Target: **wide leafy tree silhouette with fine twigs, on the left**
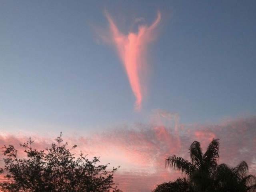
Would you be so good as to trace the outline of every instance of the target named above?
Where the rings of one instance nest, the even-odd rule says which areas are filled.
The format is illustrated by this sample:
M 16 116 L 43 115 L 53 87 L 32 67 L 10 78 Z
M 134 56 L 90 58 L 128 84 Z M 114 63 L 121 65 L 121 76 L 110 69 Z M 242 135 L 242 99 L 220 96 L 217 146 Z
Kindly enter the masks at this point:
M 4 146 L 4 178 L 0 183 L 3 192 L 117 192 L 113 174 L 117 168 L 108 170 L 108 165 L 98 165 L 99 158 L 79 157 L 71 153 L 76 148 L 62 144 L 62 134 L 50 148 L 33 149 L 30 139 L 24 144 L 26 158 L 18 158 L 13 145 Z

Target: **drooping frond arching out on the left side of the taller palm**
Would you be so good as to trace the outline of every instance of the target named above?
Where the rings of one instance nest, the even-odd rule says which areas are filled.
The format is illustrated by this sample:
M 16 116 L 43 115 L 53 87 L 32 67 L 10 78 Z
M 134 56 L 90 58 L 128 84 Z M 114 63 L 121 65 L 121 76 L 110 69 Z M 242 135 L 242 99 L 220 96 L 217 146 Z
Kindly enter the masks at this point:
M 194 166 L 182 157 L 176 157 L 175 155 L 168 157 L 165 160 L 165 166 L 181 170 L 183 173 L 190 174 L 194 169 Z

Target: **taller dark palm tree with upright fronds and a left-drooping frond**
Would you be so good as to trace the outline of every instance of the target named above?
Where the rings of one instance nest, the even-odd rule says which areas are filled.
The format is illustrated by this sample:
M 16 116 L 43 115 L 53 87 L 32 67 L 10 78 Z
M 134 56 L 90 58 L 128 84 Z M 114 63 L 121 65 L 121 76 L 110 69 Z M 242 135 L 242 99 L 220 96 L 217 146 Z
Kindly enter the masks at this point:
M 219 139 L 213 139 L 204 154 L 200 142 L 194 141 L 189 153 L 191 162 L 173 155 L 166 158 L 166 166 L 185 173 L 195 191 L 212 191 L 214 188 L 212 178 L 218 166 Z

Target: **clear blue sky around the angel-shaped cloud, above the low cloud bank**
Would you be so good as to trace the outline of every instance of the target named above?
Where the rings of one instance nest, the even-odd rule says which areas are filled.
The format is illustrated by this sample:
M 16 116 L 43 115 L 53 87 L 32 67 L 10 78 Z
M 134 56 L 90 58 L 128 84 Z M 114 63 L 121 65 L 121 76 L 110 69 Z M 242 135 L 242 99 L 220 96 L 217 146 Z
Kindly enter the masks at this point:
M 104 130 L 148 122 L 154 109 L 177 112 L 183 123 L 256 113 L 255 1 L 0 3 L 3 130 Z M 108 27 L 105 9 L 124 33 L 135 18 L 151 24 L 157 10 L 164 13 L 148 47 L 140 112 L 115 49 L 97 41 L 94 29 Z

